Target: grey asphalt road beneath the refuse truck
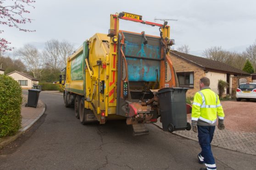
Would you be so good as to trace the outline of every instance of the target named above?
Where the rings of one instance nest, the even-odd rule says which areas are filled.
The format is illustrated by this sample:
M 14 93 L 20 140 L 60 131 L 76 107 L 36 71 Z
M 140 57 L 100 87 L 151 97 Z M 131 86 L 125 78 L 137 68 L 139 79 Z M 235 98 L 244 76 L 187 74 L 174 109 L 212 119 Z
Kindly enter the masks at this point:
M 124 121 L 82 125 L 62 96 L 43 94 L 45 114 L 0 151 L 0 169 L 199 170 L 197 142 L 163 132 L 133 137 Z M 256 170 L 256 156 L 212 147 L 218 170 Z

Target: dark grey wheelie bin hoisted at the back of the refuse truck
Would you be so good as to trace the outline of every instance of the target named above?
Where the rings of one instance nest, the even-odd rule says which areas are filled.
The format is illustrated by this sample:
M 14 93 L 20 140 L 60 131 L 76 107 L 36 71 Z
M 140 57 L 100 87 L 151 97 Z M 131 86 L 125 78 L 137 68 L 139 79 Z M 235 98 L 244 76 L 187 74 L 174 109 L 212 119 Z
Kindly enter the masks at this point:
M 186 92 L 189 88 L 164 88 L 158 91 L 163 131 L 190 130 L 187 122 Z

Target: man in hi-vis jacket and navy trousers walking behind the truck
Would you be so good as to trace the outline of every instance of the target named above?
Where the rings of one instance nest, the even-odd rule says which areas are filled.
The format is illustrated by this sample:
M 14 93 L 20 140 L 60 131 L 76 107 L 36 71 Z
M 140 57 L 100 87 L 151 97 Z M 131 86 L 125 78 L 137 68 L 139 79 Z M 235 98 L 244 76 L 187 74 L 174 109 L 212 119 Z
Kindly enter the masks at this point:
M 198 132 L 198 141 L 201 152 L 198 154 L 200 164 L 205 164 L 206 168 L 200 170 L 216 170 L 216 164 L 211 152 L 211 141 L 215 130 L 217 116 L 218 129 L 225 129 L 224 112 L 218 95 L 210 89 L 210 79 L 203 77 L 200 79 L 200 91 L 195 93 L 192 106 L 192 130 Z

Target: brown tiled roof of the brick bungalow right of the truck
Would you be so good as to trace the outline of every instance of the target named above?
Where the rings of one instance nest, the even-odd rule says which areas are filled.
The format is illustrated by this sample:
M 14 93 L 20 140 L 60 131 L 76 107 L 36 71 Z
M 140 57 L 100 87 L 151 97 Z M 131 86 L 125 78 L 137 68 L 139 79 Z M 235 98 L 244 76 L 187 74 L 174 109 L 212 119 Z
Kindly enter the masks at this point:
M 203 58 L 203 57 L 197 57 L 195 55 L 190 55 L 186 53 L 181 53 L 178 51 L 170 51 L 171 54 L 178 56 L 180 58 L 183 58 L 184 60 L 187 60 L 191 63 L 194 63 L 200 67 L 202 67 L 204 70 L 208 71 L 221 71 L 221 72 L 226 72 L 226 73 L 231 73 L 231 74 L 238 74 L 238 75 L 250 75 L 249 73 L 234 68 L 228 64 L 219 62 L 219 61 L 214 61 L 211 59 Z

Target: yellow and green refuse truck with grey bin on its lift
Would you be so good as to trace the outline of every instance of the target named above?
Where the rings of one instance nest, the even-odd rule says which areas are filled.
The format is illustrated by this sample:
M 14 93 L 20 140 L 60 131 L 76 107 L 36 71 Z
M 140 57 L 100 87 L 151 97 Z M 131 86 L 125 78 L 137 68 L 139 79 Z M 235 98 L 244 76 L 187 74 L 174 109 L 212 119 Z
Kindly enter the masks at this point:
M 159 36 L 119 30 L 120 19 L 153 26 Z M 188 89 L 178 88 L 169 56 L 173 44 L 167 22 L 143 21 L 126 12 L 111 15 L 107 34 L 96 33 L 67 58 L 60 75 L 65 106 L 74 106 L 82 124 L 126 119 L 134 136 L 148 134 L 145 123 L 158 117 L 165 131 L 190 130 Z

